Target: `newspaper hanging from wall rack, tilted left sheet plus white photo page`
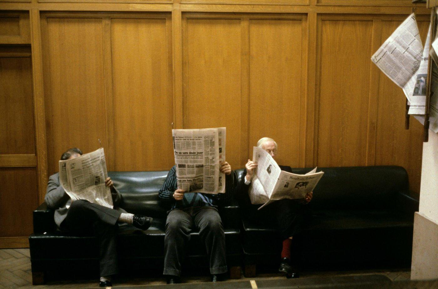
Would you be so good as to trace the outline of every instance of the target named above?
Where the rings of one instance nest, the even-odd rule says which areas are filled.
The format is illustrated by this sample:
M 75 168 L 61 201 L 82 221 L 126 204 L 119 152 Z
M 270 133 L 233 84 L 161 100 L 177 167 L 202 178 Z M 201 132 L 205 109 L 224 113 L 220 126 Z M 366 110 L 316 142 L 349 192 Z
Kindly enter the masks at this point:
M 411 14 L 371 57 L 386 76 L 403 88 L 412 106 L 410 114 L 424 114 L 428 53 L 428 48 L 426 53 L 423 51 L 415 14 Z

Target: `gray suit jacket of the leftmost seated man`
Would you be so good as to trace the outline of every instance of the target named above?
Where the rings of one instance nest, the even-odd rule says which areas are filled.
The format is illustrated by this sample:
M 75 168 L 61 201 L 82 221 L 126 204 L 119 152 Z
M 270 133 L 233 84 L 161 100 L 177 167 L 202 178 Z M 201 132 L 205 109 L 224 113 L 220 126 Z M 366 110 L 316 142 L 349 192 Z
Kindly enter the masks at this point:
M 111 189 L 111 196 L 113 197 L 114 208 L 122 201 L 122 195 L 116 188 Z M 70 206 L 71 199 L 70 196 L 65 192 L 63 187 L 60 185 L 59 173 L 51 175 L 49 177 L 49 182 L 47 183 L 46 197 L 44 197 L 47 207 L 55 210 L 55 223 L 60 227 L 62 221 L 64 221 L 67 216 L 68 208 Z M 123 209 L 117 209 L 118 211 L 126 212 Z

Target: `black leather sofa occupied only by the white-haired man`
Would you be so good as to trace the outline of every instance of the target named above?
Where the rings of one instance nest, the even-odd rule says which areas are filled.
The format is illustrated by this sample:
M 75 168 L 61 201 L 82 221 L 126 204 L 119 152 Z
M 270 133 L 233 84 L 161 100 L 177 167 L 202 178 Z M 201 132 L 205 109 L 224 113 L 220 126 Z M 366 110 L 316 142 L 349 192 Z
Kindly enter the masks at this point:
M 293 256 L 312 268 L 409 266 L 418 200 L 409 192 L 406 170 L 397 166 L 319 170 L 325 174 L 313 200 L 305 205 L 303 230 L 294 237 Z M 242 173 L 237 170 L 239 180 Z M 241 231 L 245 267 L 278 266 L 282 238 L 274 226 L 248 219 L 242 210 Z

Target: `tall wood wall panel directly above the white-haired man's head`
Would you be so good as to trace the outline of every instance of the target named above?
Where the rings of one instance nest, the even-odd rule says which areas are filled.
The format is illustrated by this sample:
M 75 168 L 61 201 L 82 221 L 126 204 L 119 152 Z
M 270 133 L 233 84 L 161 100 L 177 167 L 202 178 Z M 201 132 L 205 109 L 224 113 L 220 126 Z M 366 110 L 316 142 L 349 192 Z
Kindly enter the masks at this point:
M 306 31 L 302 19 L 251 20 L 249 25 L 249 148 L 261 137 L 279 144 L 277 162 L 300 165 L 304 138 Z M 304 26 L 305 27 L 305 26 Z M 303 51 L 304 50 L 304 51 Z M 303 122 L 302 122 L 303 121 Z

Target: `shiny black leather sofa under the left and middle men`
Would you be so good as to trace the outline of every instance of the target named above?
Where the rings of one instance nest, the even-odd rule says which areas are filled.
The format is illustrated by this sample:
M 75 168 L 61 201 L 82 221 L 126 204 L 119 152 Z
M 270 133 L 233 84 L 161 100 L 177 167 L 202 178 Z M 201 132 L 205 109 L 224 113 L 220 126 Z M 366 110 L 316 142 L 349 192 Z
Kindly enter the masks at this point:
M 120 274 L 145 272 L 162 274 L 164 263 L 164 233 L 168 204 L 160 202 L 158 191 L 168 171 L 109 172 L 114 185 L 123 196 L 121 208 L 126 211 L 154 218 L 151 227 L 140 231 L 131 225 L 120 226 L 117 243 Z M 235 174 L 235 173 L 233 173 Z M 234 175 L 233 180 L 236 180 Z M 227 264 L 230 277 L 240 278 L 240 214 L 237 201 L 230 200 L 219 207 L 225 236 Z M 53 211 L 43 203 L 33 212 L 34 233 L 29 237 L 34 284 L 41 284 L 47 275 L 83 275 L 84 272 L 99 275 L 98 245 L 94 237 L 65 236 L 57 231 Z M 186 274 L 190 269 L 209 268 L 205 245 L 198 232 L 191 233 Z M 208 272 L 208 271 L 207 271 Z M 208 273 L 207 273 L 208 274 Z

